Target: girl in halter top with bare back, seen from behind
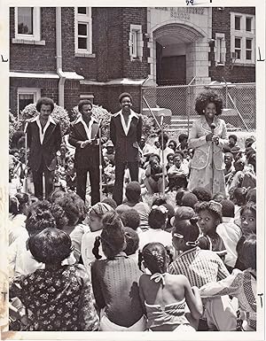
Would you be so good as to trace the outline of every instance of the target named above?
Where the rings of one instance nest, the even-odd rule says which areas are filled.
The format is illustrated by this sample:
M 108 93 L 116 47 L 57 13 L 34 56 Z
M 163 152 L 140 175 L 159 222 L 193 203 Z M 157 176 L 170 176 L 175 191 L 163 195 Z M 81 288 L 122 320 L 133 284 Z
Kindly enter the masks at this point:
M 150 275 L 141 275 L 139 294 L 152 331 L 195 331 L 202 314 L 199 289 L 191 287 L 184 275 L 167 273 L 168 255 L 160 243 L 146 244 L 141 260 Z M 194 325 L 185 314 L 189 307 Z

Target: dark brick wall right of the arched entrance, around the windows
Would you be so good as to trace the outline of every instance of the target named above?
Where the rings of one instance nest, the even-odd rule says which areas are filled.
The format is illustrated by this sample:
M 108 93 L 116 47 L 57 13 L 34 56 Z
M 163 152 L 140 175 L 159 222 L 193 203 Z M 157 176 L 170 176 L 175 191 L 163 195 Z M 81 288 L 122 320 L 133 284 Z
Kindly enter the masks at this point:
M 211 66 L 209 67 L 209 76 L 212 81 L 231 82 L 253 82 L 255 81 L 254 66 L 237 66 L 231 67 L 231 12 L 239 12 L 246 14 L 254 14 L 254 7 L 224 7 L 222 11 L 213 8 L 212 16 L 212 38 L 215 39 L 215 33 L 223 33 L 225 35 L 226 44 L 226 61 L 225 66 L 215 66 L 214 47 L 211 47 L 209 59 Z

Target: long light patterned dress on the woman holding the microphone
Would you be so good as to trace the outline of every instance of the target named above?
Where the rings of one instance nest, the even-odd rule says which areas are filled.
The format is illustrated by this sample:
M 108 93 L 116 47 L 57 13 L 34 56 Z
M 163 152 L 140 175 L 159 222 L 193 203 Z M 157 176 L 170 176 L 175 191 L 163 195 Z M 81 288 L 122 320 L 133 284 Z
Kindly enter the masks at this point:
M 201 187 L 209 190 L 213 195 L 218 192 L 225 194 L 223 147 L 228 144 L 227 130 L 224 120 L 215 117 L 215 135 L 220 137 L 219 144 L 206 142 L 206 136 L 211 133 L 205 116 L 195 120 L 189 135 L 189 148 L 194 149 L 191 163 L 191 174 L 188 188 L 193 190 Z

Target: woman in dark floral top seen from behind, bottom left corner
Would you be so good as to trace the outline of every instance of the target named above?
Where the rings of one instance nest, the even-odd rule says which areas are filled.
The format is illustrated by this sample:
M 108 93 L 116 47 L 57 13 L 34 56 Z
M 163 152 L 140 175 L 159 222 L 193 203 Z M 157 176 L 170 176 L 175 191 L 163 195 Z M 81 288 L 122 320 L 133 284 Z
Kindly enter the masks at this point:
M 72 252 L 66 232 L 44 229 L 29 238 L 28 247 L 45 268 L 12 283 L 10 297 L 20 298 L 27 312 L 21 314 L 23 330 L 97 330 L 98 314 L 85 267 L 61 265 Z

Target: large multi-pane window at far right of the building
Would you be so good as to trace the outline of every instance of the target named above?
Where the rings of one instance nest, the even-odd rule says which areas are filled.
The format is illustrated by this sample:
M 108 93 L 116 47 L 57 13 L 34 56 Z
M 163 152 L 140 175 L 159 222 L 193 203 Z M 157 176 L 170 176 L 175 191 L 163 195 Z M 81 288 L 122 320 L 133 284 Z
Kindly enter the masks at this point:
M 236 64 L 255 63 L 255 21 L 254 16 L 231 12 L 231 59 Z

